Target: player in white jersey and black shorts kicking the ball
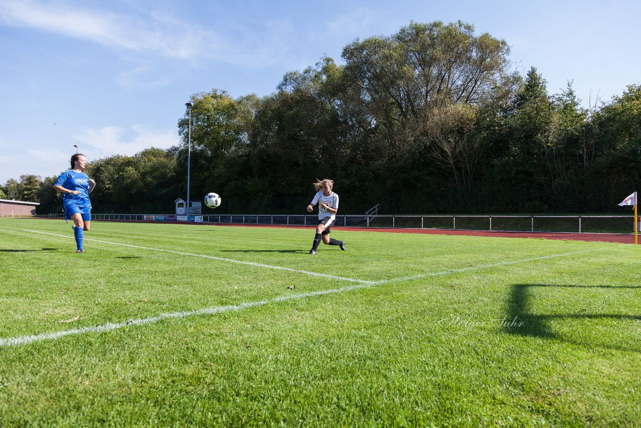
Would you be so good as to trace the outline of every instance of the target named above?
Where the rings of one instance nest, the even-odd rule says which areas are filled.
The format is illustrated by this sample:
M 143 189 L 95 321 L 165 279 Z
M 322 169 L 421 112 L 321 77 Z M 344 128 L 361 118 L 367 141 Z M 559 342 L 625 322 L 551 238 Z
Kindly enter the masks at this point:
M 320 241 L 328 245 L 338 245 L 340 249 L 345 251 L 345 241 L 338 241 L 337 239 L 330 238 L 329 230 L 334 225 L 336 220 L 336 213 L 338 212 L 338 195 L 333 193 L 331 189 L 334 187 L 333 180 L 325 178 L 324 180 L 316 180 L 314 187 L 318 190 L 315 194 L 310 205 L 307 205 L 307 211 L 312 212 L 314 205 L 319 205 L 319 225 L 316 227 L 316 235 L 314 236 L 314 243 L 310 254 L 315 254 L 319 248 Z

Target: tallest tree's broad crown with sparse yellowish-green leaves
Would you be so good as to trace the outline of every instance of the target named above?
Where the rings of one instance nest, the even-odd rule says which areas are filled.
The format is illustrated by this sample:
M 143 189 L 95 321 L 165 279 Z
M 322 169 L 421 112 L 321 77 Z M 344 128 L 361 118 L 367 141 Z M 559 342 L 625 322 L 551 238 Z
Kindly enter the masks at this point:
M 432 110 L 492 98 L 508 64 L 509 47 L 474 26 L 412 22 L 390 37 L 356 40 L 343 50 L 345 71 L 361 90 L 390 158 L 420 141 Z M 418 138 L 417 138 L 418 137 Z

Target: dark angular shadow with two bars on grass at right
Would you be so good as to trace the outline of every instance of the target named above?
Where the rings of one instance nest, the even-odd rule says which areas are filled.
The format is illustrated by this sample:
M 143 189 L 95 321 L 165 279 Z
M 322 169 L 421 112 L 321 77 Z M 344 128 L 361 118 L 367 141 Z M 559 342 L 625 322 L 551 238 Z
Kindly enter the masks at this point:
M 641 321 L 641 315 L 627 315 L 627 314 L 608 314 L 608 313 L 579 313 L 579 314 L 533 314 L 530 312 L 530 308 L 533 303 L 531 302 L 531 290 L 535 287 L 559 287 L 559 288 L 600 288 L 600 289 L 612 289 L 612 291 L 622 290 L 622 289 L 641 289 L 641 286 L 578 286 L 578 285 L 551 285 L 551 284 L 514 284 L 512 286 L 512 293 L 510 299 L 506 305 L 506 316 L 502 329 L 504 332 L 509 334 L 517 334 L 519 336 L 530 336 L 535 338 L 543 339 L 558 339 L 561 341 L 566 341 L 570 343 L 576 343 L 577 345 L 583 345 L 587 347 L 605 347 L 615 350 L 626 350 L 626 351 L 635 351 L 641 352 L 641 347 L 619 347 L 615 345 L 604 345 L 604 344 L 595 344 L 595 343 L 579 343 L 571 339 L 563 338 L 563 336 L 554 332 L 550 327 L 549 321 L 553 320 L 604 320 L 604 319 L 614 319 L 614 320 L 629 320 L 629 321 Z M 584 311 L 587 309 L 583 309 Z

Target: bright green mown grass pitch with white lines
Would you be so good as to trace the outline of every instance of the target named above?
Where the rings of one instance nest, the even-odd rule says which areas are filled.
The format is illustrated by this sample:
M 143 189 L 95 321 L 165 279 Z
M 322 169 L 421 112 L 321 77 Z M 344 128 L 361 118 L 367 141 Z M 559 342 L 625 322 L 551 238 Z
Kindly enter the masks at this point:
M 638 426 L 636 246 L 332 235 L 1 219 L 0 426 Z

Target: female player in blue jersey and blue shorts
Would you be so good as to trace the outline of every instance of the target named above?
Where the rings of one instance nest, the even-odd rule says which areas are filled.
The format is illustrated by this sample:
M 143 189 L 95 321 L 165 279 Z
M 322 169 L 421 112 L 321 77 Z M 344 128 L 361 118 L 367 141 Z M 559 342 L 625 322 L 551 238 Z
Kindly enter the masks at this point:
M 62 192 L 62 202 L 65 219 L 74 222 L 74 237 L 76 237 L 76 253 L 82 253 L 84 231 L 89 230 L 91 223 L 91 201 L 89 194 L 96 187 L 96 182 L 85 174 L 87 158 L 81 153 L 71 157 L 71 169 L 63 172 L 56 180 L 53 188 Z

